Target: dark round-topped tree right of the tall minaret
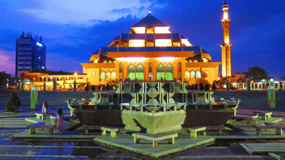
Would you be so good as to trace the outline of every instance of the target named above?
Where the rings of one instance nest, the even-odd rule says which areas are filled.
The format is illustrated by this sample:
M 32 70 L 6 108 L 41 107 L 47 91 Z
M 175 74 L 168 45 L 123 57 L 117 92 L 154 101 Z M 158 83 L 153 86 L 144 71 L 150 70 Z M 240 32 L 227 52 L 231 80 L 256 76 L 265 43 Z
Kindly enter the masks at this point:
M 250 78 L 256 79 L 256 80 L 261 80 L 261 79 L 267 79 L 268 77 L 268 72 L 266 72 L 264 69 L 260 68 L 259 66 L 253 66 L 249 67 L 248 71 L 243 71 L 242 74 L 245 74 L 245 78 Z

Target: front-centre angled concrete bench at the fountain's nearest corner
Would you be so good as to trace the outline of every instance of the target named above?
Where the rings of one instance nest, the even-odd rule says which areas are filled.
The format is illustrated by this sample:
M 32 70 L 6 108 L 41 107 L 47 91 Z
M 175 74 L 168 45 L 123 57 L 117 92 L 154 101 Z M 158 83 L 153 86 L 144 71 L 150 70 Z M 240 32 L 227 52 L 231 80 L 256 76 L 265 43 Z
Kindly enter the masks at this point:
M 132 133 L 131 135 L 133 136 L 134 143 L 139 143 L 140 138 L 152 140 L 152 147 L 157 147 L 157 141 L 163 140 L 163 139 L 167 139 L 168 144 L 174 144 L 174 137 L 178 136 L 178 134 L 174 132 L 163 133 L 163 134 L 158 134 L 158 135 L 135 132 L 135 133 Z

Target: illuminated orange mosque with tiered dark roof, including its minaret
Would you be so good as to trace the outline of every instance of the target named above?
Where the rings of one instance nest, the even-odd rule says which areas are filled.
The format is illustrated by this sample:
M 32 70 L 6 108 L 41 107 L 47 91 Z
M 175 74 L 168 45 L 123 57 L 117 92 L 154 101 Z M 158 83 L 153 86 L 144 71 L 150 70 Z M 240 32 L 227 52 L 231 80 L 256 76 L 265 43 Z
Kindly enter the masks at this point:
M 169 26 L 151 15 L 132 25 L 129 33 L 115 37 L 107 47 L 91 54 L 90 62 L 80 63 L 83 73 L 93 85 L 106 84 L 108 80 L 138 81 L 186 80 L 195 84 L 203 78 L 212 82 L 218 78 L 222 63 L 222 76 L 231 75 L 229 19 L 226 1 L 222 6 L 223 42 L 221 62 L 212 62 L 209 53 L 193 46 L 180 33 L 172 33 Z

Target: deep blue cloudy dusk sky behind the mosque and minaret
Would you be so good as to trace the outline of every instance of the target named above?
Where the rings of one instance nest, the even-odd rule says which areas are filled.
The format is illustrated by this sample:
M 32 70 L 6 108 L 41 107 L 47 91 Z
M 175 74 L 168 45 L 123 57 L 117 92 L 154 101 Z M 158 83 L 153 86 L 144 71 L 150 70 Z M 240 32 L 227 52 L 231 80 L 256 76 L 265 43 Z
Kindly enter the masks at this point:
M 232 70 L 258 65 L 273 78 L 284 76 L 285 2 L 226 1 Z M 15 39 L 30 31 L 32 37 L 42 36 L 48 70 L 81 73 L 80 63 L 128 33 L 150 5 L 151 15 L 169 25 L 170 32 L 180 33 L 209 52 L 212 61 L 221 62 L 223 4 L 224 0 L 1 0 L 0 71 L 14 76 Z

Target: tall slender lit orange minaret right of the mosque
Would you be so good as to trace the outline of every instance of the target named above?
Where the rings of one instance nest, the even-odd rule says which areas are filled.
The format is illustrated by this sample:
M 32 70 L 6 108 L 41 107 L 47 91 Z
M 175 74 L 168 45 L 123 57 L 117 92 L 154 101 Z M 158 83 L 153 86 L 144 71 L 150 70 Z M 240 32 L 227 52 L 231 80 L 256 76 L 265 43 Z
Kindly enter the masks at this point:
M 222 5 L 223 19 L 222 22 L 222 44 L 221 46 L 221 74 L 222 76 L 231 76 L 231 51 L 232 44 L 229 43 L 229 19 L 227 14 L 228 5 L 224 0 Z

